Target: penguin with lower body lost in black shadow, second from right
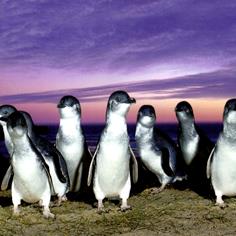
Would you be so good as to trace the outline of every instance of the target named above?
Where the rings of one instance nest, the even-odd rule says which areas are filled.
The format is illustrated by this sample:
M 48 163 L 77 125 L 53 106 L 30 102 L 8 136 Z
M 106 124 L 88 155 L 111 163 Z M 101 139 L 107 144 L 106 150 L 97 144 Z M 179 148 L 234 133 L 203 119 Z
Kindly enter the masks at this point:
M 210 183 L 206 165 L 214 144 L 195 124 L 193 109 L 187 101 L 179 102 L 175 112 L 179 122 L 178 145 L 185 162 L 188 183 L 197 193 L 208 194 Z

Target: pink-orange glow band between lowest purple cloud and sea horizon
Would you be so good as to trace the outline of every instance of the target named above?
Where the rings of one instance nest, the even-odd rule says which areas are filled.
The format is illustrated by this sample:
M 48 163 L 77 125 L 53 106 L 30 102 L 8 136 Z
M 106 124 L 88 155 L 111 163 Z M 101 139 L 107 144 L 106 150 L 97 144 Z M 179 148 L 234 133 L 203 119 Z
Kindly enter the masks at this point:
M 198 123 L 214 123 L 222 121 L 222 114 L 225 99 L 221 100 L 204 100 L 204 99 L 187 99 L 194 109 L 195 121 Z M 142 105 L 150 104 L 156 110 L 156 122 L 158 123 L 176 123 L 175 106 L 182 100 L 151 100 L 142 99 L 132 105 L 127 115 L 128 123 L 135 123 L 137 119 L 137 112 Z M 104 123 L 106 113 L 106 101 L 100 102 L 85 102 L 81 103 L 82 109 L 82 123 L 94 124 Z M 59 113 L 57 104 L 53 103 L 25 103 L 16 104 L 19 110 L 25 110 L 32 115 L 32 118 L 38 124 L 59 124 Z

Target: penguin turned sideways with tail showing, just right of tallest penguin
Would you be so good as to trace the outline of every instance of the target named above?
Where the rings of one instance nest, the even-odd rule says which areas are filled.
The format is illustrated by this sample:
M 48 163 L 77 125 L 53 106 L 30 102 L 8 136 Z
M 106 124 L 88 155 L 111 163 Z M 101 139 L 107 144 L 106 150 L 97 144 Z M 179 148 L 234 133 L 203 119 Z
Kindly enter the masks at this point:
M 140 107 L 137 116 L 135 141 L 142 163 L 154 173 L 160 188 L 152 192 L 161 192 L 169 183 L 182 178 L 177 176 L 177 147 L 171 138 L 155 127 L 156 113 L 151 105 Z

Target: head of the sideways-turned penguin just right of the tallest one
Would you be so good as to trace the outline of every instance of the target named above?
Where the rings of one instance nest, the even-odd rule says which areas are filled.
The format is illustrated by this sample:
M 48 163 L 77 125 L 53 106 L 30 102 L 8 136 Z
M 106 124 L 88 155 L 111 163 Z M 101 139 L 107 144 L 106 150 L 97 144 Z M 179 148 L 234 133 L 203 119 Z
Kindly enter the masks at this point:
M 156 121 L 155 109 L 151 105 L 143 105 L 138 111 L 137 122 L 145 127 L 153 127 Z

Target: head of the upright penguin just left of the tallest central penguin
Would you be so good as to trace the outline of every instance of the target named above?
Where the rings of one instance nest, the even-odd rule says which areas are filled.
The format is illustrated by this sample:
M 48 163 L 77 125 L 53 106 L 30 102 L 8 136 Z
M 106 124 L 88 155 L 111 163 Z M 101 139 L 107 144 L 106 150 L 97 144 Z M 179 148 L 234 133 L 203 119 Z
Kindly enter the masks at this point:
M 70 95 L 62 97 L 57 107 L 59 108 L 61 118 L 73 118 L 81 114 L 79 100 Z

